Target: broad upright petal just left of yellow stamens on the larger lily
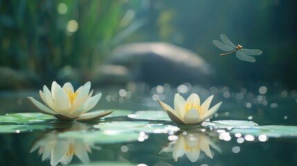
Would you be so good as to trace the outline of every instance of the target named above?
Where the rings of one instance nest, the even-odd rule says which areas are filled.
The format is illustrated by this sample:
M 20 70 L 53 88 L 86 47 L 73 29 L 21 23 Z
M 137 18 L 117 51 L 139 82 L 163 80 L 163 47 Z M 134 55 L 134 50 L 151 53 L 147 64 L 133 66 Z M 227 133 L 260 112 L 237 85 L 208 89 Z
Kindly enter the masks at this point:
M 60 85 L 57 85 L 55 88 L 55 111 L 57 113 L 64 114 L 66 116 L 69 115 L 69 109 L 71 107 L 71 103 L 69 101 L 68 95 L 63 91 Z

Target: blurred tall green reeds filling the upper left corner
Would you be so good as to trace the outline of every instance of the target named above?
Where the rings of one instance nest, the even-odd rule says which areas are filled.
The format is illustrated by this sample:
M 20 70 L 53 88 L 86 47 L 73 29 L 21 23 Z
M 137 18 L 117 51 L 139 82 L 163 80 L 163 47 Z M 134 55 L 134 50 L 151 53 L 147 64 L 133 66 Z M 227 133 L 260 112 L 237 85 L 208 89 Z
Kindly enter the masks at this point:
M 60 4 L 66 13 L 58 12 Z M 106 56 L 111 39 L 125 28 L 120 20 L 127 5 L 109 0 L 2 1 L 0 65 L 33 71 L 44 80 L 66 65 L 93 68 Z M 78 23 L 74 32 L 67 30 L 70 20 Z

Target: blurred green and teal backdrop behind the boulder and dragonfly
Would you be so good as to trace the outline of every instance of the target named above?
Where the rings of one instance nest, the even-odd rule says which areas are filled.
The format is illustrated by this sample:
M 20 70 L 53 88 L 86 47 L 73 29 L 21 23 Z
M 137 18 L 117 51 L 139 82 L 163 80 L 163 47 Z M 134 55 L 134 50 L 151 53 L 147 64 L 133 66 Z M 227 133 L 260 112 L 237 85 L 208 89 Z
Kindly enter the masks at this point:
M 114 48 L 136 42 L 167 42 L 194 51 L 215 69 L 210 86 L 296 89 L 296 3 L 1 0 L 0 89 L 39 89 L 70 69 L 69 80 L 92 80 Z M 222 51 L 212 41 L 220 34 L 264 53 L 255 63 L 219 57 Z

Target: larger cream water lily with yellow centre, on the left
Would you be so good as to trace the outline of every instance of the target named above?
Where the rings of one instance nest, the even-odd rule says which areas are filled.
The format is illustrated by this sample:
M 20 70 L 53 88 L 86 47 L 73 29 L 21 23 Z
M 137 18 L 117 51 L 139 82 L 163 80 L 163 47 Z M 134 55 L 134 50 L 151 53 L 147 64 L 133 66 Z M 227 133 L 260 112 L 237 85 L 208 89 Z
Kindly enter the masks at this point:
M 86 113 L 95 105 L 101 98 L 101 93 L 93 94 L 91 82 L 87 82 L 84 86 L 80 86 L 74 92 L 71 83 L 67 82 L 64 86 L 53 82 L 51 91 L 44 85 L 43 91 L 39 91 L 40 97 L 46 106 L 32 97 L 28 97 L 33 105 L 42 113 L 55 116 L 60 120 L 93 120 L 107 116 L 112 111 L 95 111 Z

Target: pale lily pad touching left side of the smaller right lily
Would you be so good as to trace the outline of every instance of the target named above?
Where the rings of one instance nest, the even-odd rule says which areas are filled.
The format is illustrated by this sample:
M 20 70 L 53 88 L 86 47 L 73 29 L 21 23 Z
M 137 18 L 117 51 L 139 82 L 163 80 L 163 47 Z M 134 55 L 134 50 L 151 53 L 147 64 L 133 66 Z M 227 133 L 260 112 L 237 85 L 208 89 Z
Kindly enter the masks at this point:
M 165 111 L 137 111 L 136 113 L 128 115 L 129 118 L 138 120 L 164 120 L 171 121 Z

